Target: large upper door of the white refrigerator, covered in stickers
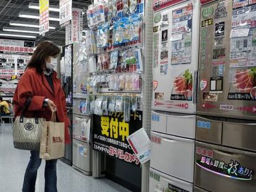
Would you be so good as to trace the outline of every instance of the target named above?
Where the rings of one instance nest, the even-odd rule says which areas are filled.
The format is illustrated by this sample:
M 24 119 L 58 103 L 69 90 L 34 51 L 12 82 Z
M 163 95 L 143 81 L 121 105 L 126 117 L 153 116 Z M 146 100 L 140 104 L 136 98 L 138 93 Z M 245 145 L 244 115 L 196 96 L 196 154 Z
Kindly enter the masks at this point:
M 186 1 L 154 14 L 154 110 L 196 111 L 199 6 L 199 0 Z

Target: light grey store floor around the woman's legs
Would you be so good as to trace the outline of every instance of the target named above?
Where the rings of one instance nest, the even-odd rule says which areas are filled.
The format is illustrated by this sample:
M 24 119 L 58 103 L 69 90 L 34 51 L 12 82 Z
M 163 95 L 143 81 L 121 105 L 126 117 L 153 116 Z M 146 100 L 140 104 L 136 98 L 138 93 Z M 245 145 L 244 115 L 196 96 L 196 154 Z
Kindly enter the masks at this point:
M 9 124 L 2 127 L 0 135 L 0 191 L 19 192 L 22 188 L 23 174 L 30 157 L 29 151 L 14 149 L 12 144 L 12 130 Z M 44 191 L 45 162 L 38 170 L 36 192 Z M 58 161 L 58 191 L 59 192 L 115 192 L 129 191 L 105 178 L 93 179 L 74 170 L 72 167 Z

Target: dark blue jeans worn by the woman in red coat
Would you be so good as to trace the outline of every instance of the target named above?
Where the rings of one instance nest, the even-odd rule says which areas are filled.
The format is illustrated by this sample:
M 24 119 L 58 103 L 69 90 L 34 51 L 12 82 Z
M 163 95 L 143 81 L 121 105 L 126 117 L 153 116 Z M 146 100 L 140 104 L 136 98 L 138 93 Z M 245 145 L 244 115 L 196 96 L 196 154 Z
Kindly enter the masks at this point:
M 39 151 L 30 151 L 30 161 L 25 172 L 22 192 L 34 192 L 37 170 L 41 165 Z M 57 159 L 45 163 L 45 192 L 57 192 Z

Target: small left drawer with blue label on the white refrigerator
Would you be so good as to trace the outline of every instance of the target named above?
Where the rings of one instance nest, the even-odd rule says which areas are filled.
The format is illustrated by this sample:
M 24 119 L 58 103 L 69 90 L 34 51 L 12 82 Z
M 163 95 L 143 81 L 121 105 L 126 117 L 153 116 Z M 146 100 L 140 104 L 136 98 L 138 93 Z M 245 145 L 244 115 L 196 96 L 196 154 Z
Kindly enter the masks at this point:
M 151 112 L 151 130 L 166 133 L 167 115 L 162 112 Z

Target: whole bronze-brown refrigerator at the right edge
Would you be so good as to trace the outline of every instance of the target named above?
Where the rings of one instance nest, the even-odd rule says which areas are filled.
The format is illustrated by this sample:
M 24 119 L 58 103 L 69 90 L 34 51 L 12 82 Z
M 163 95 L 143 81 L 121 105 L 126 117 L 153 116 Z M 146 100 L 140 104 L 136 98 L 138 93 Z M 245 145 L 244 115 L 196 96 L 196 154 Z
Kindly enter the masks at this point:
M 255 3 L 201 7 L 195 191 L 256 189 Z

